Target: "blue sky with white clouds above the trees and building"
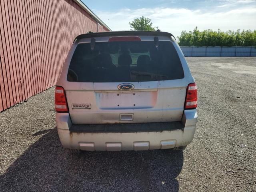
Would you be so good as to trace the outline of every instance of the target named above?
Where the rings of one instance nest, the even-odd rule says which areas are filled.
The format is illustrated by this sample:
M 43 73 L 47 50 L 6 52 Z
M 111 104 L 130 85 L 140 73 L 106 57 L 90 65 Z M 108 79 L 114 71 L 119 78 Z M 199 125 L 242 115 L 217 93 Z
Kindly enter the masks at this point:
M 82 0 L 111 30 L 141 16 L 179 36 L 182 30 L 256 30 L 256 0 Z

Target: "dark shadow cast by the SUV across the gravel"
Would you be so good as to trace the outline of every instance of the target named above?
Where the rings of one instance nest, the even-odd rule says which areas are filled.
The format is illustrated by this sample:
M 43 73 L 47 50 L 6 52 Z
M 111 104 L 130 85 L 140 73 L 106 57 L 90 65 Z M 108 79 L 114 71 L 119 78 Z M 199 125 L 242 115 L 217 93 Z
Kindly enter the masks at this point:
M 40 134 L 40 133 L 39 133 Z M 37 134 L 36 134 L 37 135 Z M 0 176 L 2 191 L 178 191 L 183 152 L 82 152 L 50 129 Z

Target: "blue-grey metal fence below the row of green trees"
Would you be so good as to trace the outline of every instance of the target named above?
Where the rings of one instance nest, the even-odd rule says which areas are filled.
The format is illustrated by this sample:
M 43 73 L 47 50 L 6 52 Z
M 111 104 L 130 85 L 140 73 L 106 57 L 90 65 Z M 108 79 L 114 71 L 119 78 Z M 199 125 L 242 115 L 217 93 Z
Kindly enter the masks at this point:
M 180 46 L 184 56 L 187 57 L 255 57 L 256 47 L 195 47 Z

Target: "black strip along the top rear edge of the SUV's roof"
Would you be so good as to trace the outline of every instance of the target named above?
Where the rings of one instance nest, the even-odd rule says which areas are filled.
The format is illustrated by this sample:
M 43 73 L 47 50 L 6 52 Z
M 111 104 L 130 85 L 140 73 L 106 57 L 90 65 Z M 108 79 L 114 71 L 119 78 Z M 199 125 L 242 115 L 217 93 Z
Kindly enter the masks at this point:
M 173 34 L 168 32 L 161 32 L 160 30 L 156 31 L 110 31 L 110 32 L 88 32 L 87 34 L 78 35 L 76 39 L 83 39 L 83 38 L 93 38 L 93 37 L 106 37 L 106 36 L 136 36 L 136 35 L 150 35 L 150 36 L 168 36 L 173 37 Z

